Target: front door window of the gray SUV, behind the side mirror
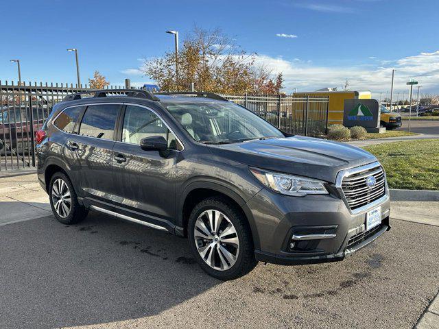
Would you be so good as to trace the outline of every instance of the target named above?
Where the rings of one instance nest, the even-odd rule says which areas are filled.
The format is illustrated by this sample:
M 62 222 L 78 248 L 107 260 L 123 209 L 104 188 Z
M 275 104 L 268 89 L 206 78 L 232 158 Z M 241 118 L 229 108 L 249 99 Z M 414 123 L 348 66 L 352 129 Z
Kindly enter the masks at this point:
M 174 134 L 154 112 L 127 105 L 123 118 L 122 142 L 139 145 L 142 138 L 151 136 L 163 136 L 169 149 L 180 149 Z

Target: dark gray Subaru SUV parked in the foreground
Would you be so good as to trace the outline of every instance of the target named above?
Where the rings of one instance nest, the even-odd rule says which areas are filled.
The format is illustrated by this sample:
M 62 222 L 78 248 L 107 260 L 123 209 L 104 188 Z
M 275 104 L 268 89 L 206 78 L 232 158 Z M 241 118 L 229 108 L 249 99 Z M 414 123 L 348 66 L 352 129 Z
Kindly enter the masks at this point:
M 95 210 L 186 236 L 221 280 L 257 261 L 342 260 L 390 229 L 385 172 L 362 149 L 285 134 L 211 93 L 88 93 L 36 133 L 61 223 Z

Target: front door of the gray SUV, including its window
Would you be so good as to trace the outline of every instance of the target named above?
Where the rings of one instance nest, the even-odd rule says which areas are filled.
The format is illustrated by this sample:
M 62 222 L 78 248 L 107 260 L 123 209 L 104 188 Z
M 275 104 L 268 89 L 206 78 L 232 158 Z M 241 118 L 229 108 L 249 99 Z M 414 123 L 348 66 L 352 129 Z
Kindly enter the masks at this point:
M 181 144 L 152 110 L 126 105 L 123 113 L 121 138 L 113 147 L 112 160 L 117 212 L 159 226 L 172 226 Z M 163 136 L 168 150 L 141 149 L 141 139 L 148 136 Z

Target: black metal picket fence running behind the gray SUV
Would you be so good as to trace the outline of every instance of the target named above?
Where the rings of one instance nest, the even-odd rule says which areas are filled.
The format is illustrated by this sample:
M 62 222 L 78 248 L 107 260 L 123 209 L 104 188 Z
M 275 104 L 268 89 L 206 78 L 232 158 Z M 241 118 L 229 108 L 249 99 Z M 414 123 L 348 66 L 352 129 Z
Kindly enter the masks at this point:
M 125 86 L 108 86 L 111 89 Z M 67 95 L 92 90 L 73 84 L 14 84 L 0 81 L 0 171 L 35 167 L 35 132 Z M 327 97 L 222 95 L 289 134 L 327 132 Z

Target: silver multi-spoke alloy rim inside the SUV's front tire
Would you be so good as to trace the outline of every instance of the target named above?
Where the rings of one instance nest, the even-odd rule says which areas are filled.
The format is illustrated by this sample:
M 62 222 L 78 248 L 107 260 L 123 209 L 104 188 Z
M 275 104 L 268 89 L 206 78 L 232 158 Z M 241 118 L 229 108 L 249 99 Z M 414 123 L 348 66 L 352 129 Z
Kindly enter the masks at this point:
M 233 223 L 218 210 L 205 210 L 193 228 L 198 254 L 204 262 L 219 271 L 230 269 L 239 254 L 239 239 Z

